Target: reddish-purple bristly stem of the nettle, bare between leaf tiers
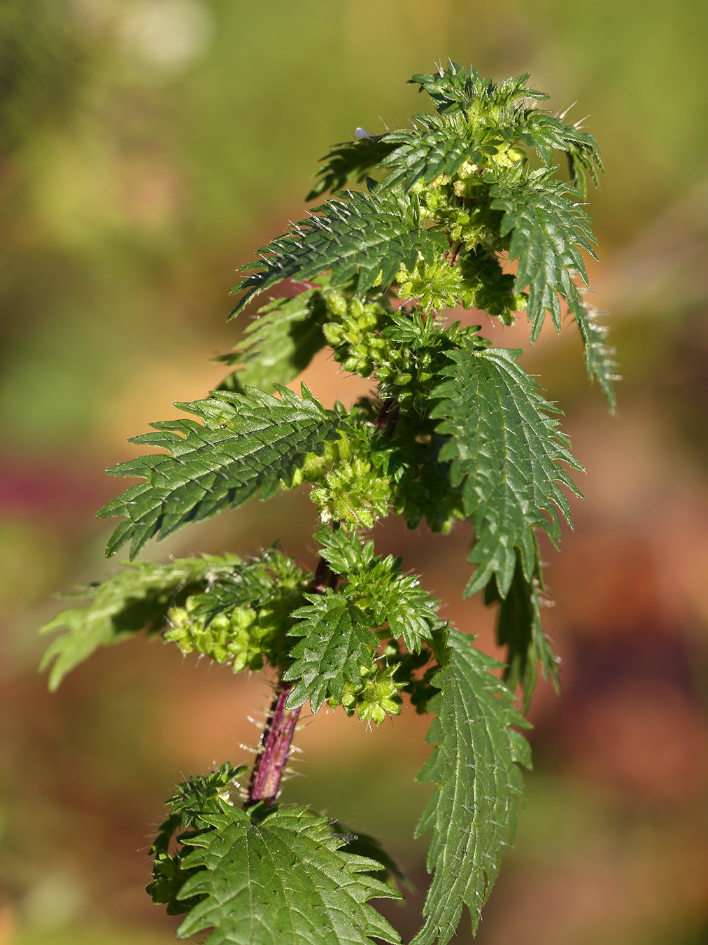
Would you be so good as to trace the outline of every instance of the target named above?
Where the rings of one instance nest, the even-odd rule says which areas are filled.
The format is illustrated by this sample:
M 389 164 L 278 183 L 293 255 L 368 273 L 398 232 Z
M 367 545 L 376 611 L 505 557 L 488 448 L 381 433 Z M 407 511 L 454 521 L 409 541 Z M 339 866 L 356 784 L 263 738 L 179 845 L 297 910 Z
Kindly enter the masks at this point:
M 311 592 L 324 593 L 336 581 L 337 575 L 330 570 L 327 561 L 320 558 L 312 577 Z M 244 807 L 252 807 L 260 801 L 263 801 L 264 806 L 270 807 L 278 798 L 282 772 L 290 755 L 297 718 L 302 708 L 301 706 L 296 709 L 285 708 L 292 689 L 292 682 L 285 682 L 278 677 L 278 685 L 261 735 L 256 762 L 251 771 Z

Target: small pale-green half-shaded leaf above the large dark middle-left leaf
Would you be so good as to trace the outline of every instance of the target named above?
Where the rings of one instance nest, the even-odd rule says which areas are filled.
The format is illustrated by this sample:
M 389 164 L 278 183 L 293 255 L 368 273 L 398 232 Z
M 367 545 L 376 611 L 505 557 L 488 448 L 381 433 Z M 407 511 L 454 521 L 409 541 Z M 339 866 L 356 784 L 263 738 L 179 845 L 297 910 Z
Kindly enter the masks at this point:
M 327 315 L 319 289 L 268 302 L 234 351 L 219 359 L 241 365 L 219 389 L 244 393 L 245 387 L 261 387 L 273 391 L 277 384 L 290 384 L 327 344 L 322 334 Z

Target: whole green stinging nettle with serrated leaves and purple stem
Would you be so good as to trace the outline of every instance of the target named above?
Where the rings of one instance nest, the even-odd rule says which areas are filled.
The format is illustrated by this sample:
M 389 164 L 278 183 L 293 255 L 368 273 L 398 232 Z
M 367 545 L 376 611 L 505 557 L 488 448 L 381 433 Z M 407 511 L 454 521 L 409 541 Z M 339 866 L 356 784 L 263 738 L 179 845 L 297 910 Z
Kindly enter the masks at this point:
M 279 805 L 278 794 L 307 702 L 312 713 L 341 706 L 379 725 L 406 697 L 432 716 L 434 746 L 418 775 L 435 787 L 417 828 L 431 833 L 433 877 L 413 942 L 444 945 L 464 905 L 477 928 L 513 838 L 520 766 L 530 765 L 522 711 L 538 664 L 558 681 L 541 626 L 538 533 L 558 542 L 569 522 L 564 488 L 578 494 L 567 469 L 581 466 L 560 411 L 517 363 L 521 352 L 442 314 L 462 306 L 511 325 L 525 311 L 533 342 L 547 313 L 561 329 L 564 300 L 590 378 L 615 408 L 613 352 L 579 288 L 582 251 L 593 255 L 582 201 L 585 175 L 597 183 L 598 147 L 537 107 L 547 96 L 528 79 L 497 86 L 449 63 L 411 79 L 434 112 L 413 115 L 408 129 L 358 129 L 335 146 L 309 195 L 333 197 L 243 267 L 232 315 L 278 284 L 289 294 L 258 311 L 224 358 L 236 369 L 218 389 L 177 404 L 195 419 L 152 423 L 155 432 L 131 440 L 165 452 L 109 470 L 142 481 L 98 512 L 124 520 L 108 555 L 130 542 L 134 558 L 184 524 L 309 484 L 322 522 L 314 571 L 277 546 L 254 558 L 128 564 L 79 589 L 88 604 L 44 627 L 62 631 L 43 662 L 52 688 L 98 646 L 142 630 L 234 672 L 267 666 L 275 677 L 253 765 L 192 777 L 168 801 L 147 888 L 184 915 L 179 937 L 400 940 L 368 904 L 400 898 L 379 844 Z M 350 182 L 363 186 L 340 189 Z M 299 395 L 284 387 L 326 347 L 371 379 L 369 396 L 326 409 L 304 385 Z M 438 616 L 405 562 L 362 537 L 389 514 L 434 532 L 473 524 L 464 593 L 497 607 L 505 665 Z

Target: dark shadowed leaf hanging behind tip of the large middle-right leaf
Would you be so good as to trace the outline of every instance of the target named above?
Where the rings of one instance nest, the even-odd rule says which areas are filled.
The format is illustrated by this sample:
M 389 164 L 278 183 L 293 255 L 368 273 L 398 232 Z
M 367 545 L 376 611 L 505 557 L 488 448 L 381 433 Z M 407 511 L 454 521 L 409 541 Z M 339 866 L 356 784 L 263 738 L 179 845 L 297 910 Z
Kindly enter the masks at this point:
M 527 713 L 536 688 L 538 664 L 541 664 L 544 679 L 552 679 L 558 692 L 560 679 L 558 661 L 541 623 L 538 590 L 533 579 L 524 576 L 520 560 L 516 561 L 514 579 L 506 597 L 501 597 L 497 582 L 492 580 L 484 589 L 484 603 L 499 605 L 497 643 L 507 647 L 504 681 L 512 692 L 521 687 L 523 712 Z

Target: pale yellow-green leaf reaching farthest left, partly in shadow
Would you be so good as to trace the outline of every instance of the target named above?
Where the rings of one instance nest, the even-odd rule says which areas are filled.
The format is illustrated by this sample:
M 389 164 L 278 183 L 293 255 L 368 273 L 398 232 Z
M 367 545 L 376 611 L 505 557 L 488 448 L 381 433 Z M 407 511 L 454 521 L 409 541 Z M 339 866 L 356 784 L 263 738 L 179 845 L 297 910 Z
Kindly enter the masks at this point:
M 88 584 L 66 594 L 89 603 L 62 610 L 40 631 L 64 630 L 42 657 L 40 669 L 51 666 L 49 688 L 57 689 L 66 674 L 99 646 L 120 643 L 143 629 L 160 631 L 167 611 L 178 600 L 240 563 L 235 555 L 181 558 L 168 564 L 139 562 L 101 584 Z

